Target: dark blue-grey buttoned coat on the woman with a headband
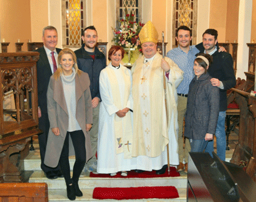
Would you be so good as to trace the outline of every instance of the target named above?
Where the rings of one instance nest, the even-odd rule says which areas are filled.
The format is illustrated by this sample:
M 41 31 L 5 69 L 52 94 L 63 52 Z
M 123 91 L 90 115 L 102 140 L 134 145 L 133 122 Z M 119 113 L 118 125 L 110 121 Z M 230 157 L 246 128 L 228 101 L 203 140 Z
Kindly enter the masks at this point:
M 184 136 L 202 140 L 206 133 L 215 134 L 220 110 L 220 90 L 211 85 L 207 73 L 195 76 L 189 84 Z

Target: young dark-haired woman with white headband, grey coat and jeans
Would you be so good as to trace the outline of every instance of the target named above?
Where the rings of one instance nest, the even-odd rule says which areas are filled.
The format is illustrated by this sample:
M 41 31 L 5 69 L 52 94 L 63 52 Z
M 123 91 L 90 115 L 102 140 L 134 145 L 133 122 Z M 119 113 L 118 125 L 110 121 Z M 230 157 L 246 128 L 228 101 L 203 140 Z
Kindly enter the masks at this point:
M 207 73 L 212 56 L 201 53 L 194 61 L 195 78 L 189 85 L 184 136 L 191 152 L 202 152 L 213 139 L 219 115 L 219 89 L 211 84 Z

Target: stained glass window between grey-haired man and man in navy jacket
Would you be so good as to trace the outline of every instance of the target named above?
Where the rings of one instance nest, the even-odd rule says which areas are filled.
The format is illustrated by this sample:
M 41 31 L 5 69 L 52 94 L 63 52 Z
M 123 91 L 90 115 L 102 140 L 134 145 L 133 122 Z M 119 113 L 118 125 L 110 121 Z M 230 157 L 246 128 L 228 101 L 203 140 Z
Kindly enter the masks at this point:
M 62 0 L 62 25 L 65 47 L 75 48 L 82 45 L 81 33 L 85 28 L 85 0 Z M 65 22 L 63 20 L 65 19 Z M 62 26 L 64 29 L 64 26 Z

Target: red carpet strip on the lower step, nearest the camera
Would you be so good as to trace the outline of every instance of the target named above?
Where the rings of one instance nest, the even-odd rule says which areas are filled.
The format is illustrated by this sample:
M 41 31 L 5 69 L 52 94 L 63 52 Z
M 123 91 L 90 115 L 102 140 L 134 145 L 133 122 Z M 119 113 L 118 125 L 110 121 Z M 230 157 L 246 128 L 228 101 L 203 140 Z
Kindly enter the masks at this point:
M 129 187 L 108 188 L 96 187 L 92 198 L 95 199 L 141 199 L 141 198 L 178 198 L 179 194 L 175 187 Z

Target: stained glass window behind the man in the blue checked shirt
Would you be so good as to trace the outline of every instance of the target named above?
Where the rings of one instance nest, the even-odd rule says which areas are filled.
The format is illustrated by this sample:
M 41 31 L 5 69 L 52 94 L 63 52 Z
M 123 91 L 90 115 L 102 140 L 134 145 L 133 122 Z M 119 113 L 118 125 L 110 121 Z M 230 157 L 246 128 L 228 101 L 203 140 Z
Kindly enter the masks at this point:
M 172 48 L 178 45 L 175 33 L 179 26 L 185 25 L 192 30 L 191 45 L 197 43 L 197 1 L 174 0 L 174 18 L 172 29 Z

